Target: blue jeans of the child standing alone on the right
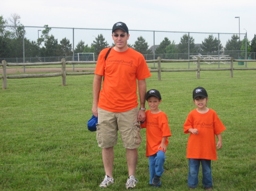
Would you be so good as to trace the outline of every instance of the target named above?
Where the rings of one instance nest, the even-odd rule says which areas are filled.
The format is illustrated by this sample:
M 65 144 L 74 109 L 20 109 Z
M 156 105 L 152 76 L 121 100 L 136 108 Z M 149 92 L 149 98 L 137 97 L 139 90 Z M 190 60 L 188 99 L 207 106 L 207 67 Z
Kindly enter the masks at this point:
M 198 173 L 200 162 L 203 169 L 203 185 L 205 188 L 212 187 L 212 169 L 210 168 L 211 160 L 207 159 L 189 159 L 188 186 L 196 188 L 199 180 Z

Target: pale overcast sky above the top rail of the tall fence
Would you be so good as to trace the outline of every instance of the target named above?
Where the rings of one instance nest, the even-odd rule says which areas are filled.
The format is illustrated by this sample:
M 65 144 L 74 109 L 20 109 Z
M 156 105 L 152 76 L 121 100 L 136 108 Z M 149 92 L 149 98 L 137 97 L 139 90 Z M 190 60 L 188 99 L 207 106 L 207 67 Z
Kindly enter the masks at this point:
M 255 0 L 1 0 L 0 15 L 23 26 L 256 34 Z

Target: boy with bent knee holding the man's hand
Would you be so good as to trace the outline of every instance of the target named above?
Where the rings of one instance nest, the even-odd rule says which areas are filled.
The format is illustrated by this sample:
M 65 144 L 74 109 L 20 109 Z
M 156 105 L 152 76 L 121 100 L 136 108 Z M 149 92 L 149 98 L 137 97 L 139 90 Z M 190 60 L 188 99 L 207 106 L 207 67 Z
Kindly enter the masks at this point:
M 162 184 L 160 177 L 164 172 L 163 164 L 171 130 L 166 113 L 158 108 L 162 101 L 160 92 L 149 90 L 146 100 L 150 109 L 146 111 L 146 120 L 141 122 L 141 128 L 147 128 L 146 156 L 149 158 L 150 185 L 159 187 Z

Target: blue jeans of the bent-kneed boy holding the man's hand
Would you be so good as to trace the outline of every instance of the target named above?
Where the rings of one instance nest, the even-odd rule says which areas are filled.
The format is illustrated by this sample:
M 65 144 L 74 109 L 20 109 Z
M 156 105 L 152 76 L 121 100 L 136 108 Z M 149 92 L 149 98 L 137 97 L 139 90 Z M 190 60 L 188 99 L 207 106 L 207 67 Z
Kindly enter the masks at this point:
M 150 184 L 152 184 L 152 179 L 155 175 L 162 176 L 165 159 L 166 155 L 164 151 L 158 151 L 156 154 L 149 156 Z M 161 185 L 161 182 L 158 185 Z

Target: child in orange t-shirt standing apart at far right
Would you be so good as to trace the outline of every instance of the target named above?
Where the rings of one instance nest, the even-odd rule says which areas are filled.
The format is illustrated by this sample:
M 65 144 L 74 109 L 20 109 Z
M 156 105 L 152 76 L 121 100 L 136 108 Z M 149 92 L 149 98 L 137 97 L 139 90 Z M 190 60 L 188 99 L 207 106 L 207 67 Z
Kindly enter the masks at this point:
M 200 163 L 203 169 L 203 185 L 205 190 L 212 190 L 211 160 L 217 160 L 215 135 L 218 138 L 217 148 L 222 147 L 221 132 L 226 128 L 213 109 L 207 108 L 208 94 L 205 88 L 193 90 L 193 101 L 196 109 L 188 114 L 185 121 L 184 133 L 190 133 L 187 145 L 189 163 L 188 187 L 196 188 L 199 180 Z

